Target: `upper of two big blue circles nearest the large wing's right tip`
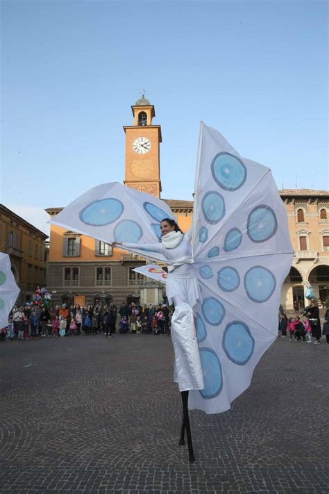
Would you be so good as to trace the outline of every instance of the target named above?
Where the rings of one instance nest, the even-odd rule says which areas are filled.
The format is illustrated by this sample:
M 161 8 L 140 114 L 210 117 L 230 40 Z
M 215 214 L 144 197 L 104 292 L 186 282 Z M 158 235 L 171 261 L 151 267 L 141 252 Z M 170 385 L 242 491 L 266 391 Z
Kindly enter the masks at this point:
M 278 222 L 274 211 L 261 204 L 248 215 L 247 233 L 253 242 L 265 242 L 276 234 Z

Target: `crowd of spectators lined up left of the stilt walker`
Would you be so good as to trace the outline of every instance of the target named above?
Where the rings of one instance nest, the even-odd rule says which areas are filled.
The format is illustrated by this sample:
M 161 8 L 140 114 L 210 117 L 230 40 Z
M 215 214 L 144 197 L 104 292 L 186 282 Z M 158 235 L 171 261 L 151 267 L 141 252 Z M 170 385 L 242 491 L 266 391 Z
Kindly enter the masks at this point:
M 8 325 L 0 329 L 0 340 L 19 341 L 35 338 L 63 338 L 104 334 L 111 338 L 118 330 L 121 334 L 170 335 L 171 309 L 165 304 L 126 304 L 117 310 L 115 304 L 39 307 L 33 304 L 15 305 L 10 312 Z

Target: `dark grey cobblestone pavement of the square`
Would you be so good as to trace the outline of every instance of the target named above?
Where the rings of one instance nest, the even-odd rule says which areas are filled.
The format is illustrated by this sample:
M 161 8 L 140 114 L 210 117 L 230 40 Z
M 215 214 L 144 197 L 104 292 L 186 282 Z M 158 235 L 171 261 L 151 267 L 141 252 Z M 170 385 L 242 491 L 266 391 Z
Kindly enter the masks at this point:
M 219 415 L 192 411 L 166 336 L 0 344 L 1 494 L 328 493 L 329 346 L 278 339 Z

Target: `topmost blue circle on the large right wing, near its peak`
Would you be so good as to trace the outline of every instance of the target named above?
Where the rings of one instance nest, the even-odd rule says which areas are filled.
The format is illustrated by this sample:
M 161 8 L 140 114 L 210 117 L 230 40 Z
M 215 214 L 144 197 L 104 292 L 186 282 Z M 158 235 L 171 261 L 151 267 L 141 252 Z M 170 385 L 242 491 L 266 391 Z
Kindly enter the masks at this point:
M 246 167 L 242 160 L 230 153 L 219 153 L 212 160 L 214 180 L 224 190 L 237 190 L 246 181 Z

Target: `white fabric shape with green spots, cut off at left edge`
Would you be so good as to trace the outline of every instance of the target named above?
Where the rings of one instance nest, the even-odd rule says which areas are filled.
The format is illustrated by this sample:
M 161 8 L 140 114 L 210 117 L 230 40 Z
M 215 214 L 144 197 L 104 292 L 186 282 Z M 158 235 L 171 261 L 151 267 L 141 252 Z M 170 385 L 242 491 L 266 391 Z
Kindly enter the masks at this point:
M 0 327 L 8 324 L 8 315 L 19 295 L 8 254 L 0 252 Z

